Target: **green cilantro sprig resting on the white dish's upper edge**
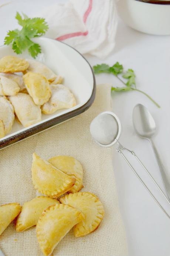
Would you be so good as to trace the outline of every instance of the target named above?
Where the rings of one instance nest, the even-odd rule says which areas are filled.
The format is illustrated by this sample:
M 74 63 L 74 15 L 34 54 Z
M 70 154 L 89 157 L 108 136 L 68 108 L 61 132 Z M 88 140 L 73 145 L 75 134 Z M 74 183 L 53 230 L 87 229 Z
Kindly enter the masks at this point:
M 41 53 L 41 47 L 31 38 L 43 36 L 48 30 L 48 24 L 43 18 L 31 19 L 26 14 L 23 14 L 22 18 L 18 12 L 15 18 L 22 29 L 9 30 L 4 44 L 12 44 L 12 49 L 17 54 L 28 49 L 29 54 L 35 59 L 38 53 Z

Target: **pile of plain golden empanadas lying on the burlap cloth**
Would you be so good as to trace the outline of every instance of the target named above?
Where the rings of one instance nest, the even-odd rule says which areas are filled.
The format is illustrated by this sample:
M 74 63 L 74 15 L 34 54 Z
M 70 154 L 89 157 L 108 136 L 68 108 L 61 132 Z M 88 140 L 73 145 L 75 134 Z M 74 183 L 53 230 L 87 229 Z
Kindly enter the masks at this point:
M 16 231 L 36 227 L 37 240 L 45 256 L 50 256 L 61 239 L 74 227 L 75 237 L 94 231 L 104 216 L 103 205 L 92 193 L 82 188 L 83 169 L 70 156 L 54 156 L 48 161 L 33 154 L 31 167 L 37 196 L 21 207 L 10 203 L 0 207 L 0 234 L 17 217 Z M 59 200 L 56 198 L 60 197 Z

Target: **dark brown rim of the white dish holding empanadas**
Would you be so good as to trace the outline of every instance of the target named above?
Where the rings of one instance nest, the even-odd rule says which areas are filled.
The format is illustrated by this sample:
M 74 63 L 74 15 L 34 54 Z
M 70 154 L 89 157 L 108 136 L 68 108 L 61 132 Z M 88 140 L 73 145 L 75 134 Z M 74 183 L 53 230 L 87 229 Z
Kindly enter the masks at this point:
M 56 41 L 55 39 L 51 39 L 51 40 Z M 66 44 L 66 43 L 60 42 L 60 41 L 59 41 L 59 43 Z M 69 46 L 68 44 L 66 44 L 66 45 Z M 71 46 L 69 46 L 69 47 L 71 47 Z M 71 48 L 79 53 L 79 51 L 77 51 L 73 47 L 71 47 Z M 48 121 L 45 121 L 44 123 L 37 124 L 34 127 L 28 128 L 27 130 L 24 130 L 19 134 L 14 134 L 14 135 L 12 135 L 12 136 L 4 139 L 4 140 L 1 140 L 0 141 L 0 149 L 3 149 L 4 147 L 10 146 L 10 145 L 12 145 L 16 142 L 19 142 L 20 140 L 26 139 L 27 137 L 33 136 L 34 134 L 43 132 L 44 130 L 46 130 L 48 128 L 51 128 L 51 127 L 54 127 L 55 125 L 57 125 L 59 123 L 62 123 L 62 122 L 66 121 L 66 120 L 68 120 L 72 117 L 78 116 L 79 114 L 85 112 L 92 105 L 92 103 L 95 99 L 95 94 L 96 94 L 95 75 L 94 75 L 93 69 L 92 69 L 91 65 L 89 64 L 89 62 L 85 59 L 84 56 L 82 56 L 81 53 L 79 53 L 79 54 L 88 63 L 88 65 L 89 65 L 89 67 L 92 71 L 92 74 L 93 74 L 93 90 L 92 90 L 92 94 L 91 94 L 91 97 L 89 98 L 89 100 L 84 105 L 79 107 L 78 109 L 74 109 L 74 110 L 72 110 L 68 113 L 62 114 L 61 116 L 54 117 L 54 118 L 52 118 Z

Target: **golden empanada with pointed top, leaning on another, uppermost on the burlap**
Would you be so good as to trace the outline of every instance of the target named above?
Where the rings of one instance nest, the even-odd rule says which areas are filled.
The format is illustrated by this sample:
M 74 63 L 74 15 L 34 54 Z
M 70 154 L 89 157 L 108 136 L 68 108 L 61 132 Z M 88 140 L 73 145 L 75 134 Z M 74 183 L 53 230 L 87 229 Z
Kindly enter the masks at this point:
M 57 198 L 71 189 L 76 179 L 66 175 L 49 162 L 33 154 L 32 180 L 40 193 Z

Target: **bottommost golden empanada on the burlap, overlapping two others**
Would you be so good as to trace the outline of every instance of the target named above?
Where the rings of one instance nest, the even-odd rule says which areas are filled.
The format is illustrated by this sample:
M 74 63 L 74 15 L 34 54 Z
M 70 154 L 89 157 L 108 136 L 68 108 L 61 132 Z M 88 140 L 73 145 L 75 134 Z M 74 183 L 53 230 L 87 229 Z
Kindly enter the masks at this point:
M 50 256 L 55 246 L 84 216 L 68 205 L 48 207 L 38 220 L 36 232 L 41 251 Z

